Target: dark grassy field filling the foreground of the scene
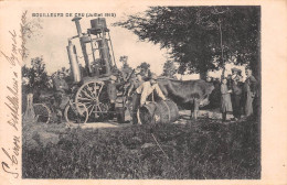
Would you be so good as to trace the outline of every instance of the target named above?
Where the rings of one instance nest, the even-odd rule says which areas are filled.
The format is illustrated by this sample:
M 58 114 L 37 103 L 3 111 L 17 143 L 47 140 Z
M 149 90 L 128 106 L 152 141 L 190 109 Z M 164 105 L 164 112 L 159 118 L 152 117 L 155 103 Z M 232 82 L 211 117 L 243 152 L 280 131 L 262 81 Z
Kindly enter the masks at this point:
M 23 178 L 261 178 L 258 121 L 31 128 L 23 128 Z

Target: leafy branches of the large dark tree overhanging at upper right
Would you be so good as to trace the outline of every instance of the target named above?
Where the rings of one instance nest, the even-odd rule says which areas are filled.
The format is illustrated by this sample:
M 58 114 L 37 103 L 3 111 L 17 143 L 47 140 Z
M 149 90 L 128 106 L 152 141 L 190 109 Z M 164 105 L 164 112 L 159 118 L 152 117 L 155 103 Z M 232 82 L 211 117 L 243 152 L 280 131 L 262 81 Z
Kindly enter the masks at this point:
M 179 74 L 200 73 L 203 78 L 232 56 L 238 64 L 249 61 L 257 69 L 259 19 L 259 7 L 151 7 L 114 25 L 132 31 L 140 41 L 170 48 Z

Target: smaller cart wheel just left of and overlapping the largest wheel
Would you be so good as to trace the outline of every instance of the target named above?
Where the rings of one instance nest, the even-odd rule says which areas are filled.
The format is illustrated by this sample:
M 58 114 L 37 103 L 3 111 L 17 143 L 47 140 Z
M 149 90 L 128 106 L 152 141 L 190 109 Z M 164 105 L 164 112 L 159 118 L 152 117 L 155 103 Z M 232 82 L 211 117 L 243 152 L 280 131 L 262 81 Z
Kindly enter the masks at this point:
M 79 108 L 79 110 L 77 109 Z M 86 123 L 88 119 L 87 108 L 83 104 L 78 104 L 76 106 L 76 102 L 70 104 L 66 106 L 64 111 L 65 120 L 66 122 L 72 123 Z

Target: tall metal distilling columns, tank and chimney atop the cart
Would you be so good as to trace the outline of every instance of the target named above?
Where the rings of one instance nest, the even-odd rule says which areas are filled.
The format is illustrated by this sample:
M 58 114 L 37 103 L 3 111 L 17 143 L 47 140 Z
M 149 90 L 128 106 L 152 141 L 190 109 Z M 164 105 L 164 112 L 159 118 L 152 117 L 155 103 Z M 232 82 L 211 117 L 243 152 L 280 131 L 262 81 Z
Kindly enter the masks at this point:
M 85 72 L 82 76 L 89 77 L 108 77 L 111 75 L 113 66 L 116 66 L 113 44 L 109 35 L 109 30 L 106 25 L 105 18 L 91 20 L 91 29 L 86 33 L 82 32 L 79 20 L 82 18 L 74 18 L 77 35 L 68 40 L 67 53 L 71 63 L 71 68 L 75 83 L 81 80 L 78 70 L 78 59 L 75 48 L 72 50 L 72 40 L 78 39 L 83 58 L 85 61 Z

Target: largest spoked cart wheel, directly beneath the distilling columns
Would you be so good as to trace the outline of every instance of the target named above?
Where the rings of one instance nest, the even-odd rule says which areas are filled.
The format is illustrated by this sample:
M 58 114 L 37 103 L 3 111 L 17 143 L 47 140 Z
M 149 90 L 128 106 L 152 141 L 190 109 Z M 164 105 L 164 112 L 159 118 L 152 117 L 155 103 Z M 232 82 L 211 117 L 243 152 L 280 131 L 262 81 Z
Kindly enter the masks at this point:
M 85 83 L 76 92 L 75 104 L 78 110 L 81 104 L 86 106 L 91 121 L 107 119 L 110 105 L 105 83 L 102 80 Z

